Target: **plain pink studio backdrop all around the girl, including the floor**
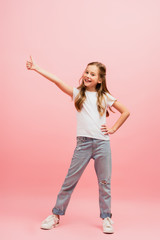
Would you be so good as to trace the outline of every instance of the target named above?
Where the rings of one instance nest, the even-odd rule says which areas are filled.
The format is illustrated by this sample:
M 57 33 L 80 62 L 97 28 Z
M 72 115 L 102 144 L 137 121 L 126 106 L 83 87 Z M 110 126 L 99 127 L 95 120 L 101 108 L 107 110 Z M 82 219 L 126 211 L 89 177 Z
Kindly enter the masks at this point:
M 146 239 L 157 234 L 159 8 L 158 0 L 1 1 L 0 211 L 6 239 L 19 234 L 23 239 L 46 235 L 53 239 L 54 230 L 44 232 L 39 227 L 51 214 L 76 144 L 73 102 L 52 82 L 27 70 L 30 55 L 39 66 L 75 87 L 89 62 L 106 65 L 109 91 L 131 113 L 110 135 L 115 234 L 119 239 L 135 239 L 135 228 Z M 113 110 L 116 113 L 110 112 L 108 127 L 120 117 Z M 149 217 L 154 222 L 146 232 Z M 90 226 L 91 219 L 95 222 Z M 106 237 L 101 233 L 93 160 L 62 221 L 55 229 L 59 239 L 88 239 L 86 231 L 92 237 Z M 85 233 L 77 236 L 79 226 Z

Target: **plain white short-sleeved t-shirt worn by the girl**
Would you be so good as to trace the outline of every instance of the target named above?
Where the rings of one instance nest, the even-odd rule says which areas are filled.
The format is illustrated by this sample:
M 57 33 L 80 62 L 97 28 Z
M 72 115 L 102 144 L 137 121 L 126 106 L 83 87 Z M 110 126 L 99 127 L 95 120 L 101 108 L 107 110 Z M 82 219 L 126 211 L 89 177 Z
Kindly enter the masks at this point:
M 77 96 L 79 89 L 73 88 L 73 101 Z M 77 136 L 91 137 L 102 140 L 109 140 L 109 134 L 104 135 L 101 131 L 101 125 L 106 124 L 106 110 L 112 106 L 116 98 L 107 93 L 105 96 L 106 109 L 103 116 L 100 116 L 97 109 L 97 92 L 87 91 L 86 100 L 80 112 L 76 112 L 77 117 Z M 104 104 L 105 104 L 104 103 Z

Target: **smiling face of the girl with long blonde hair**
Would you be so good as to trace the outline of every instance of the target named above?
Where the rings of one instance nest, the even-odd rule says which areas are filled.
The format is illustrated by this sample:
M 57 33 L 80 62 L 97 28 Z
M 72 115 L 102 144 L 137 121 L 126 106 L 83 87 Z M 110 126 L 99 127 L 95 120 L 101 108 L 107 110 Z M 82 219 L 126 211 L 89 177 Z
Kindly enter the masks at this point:
M 96 65 L 89 65 L 83 73 L 83 83 L 88 91 L 96 91 L 97 83 L 100 83 L 99 69 Z

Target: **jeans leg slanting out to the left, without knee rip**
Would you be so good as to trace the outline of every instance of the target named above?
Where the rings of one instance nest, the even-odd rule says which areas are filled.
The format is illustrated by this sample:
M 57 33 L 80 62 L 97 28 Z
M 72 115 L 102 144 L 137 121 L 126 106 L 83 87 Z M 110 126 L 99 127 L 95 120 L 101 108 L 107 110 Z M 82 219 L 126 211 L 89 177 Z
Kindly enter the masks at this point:
M 57 196 L 56 205 L 52 209 L 53 214 L 65 214 L 66 208 L 71 198 L 71 194 L 77 185 L 84 169 L 91 159 L 91 143 L 91 140 L 88 140 L 87 137 L 78 137 L 77 146 L 74 150 L 68 174 L 65 177 L 61 190 Z

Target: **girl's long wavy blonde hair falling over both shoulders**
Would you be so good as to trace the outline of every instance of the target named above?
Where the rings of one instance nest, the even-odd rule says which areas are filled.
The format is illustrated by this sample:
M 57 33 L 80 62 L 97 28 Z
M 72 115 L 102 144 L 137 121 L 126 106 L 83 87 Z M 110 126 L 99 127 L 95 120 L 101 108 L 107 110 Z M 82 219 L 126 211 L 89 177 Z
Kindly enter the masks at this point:
M 97 83 L 97 85 L 96 85 L 96 91 L 98 93 L 98 95 L 97 95 L 97 109 L 98 109 L 98 112 L 99 112 L 100 116 L 103 116 L 103 114 L 105 112 L 105 108 L 106 108 L 106 106 L 104 106 L 104 104 L 103 104 L 104 95 L 106 95 L 106 93 L 110 93 L 109 90 L 107 89 L 107 85 L 106 85 L 106 67 L 105 67 L 104 64 L 102 64 L 100 62 L 88 63 L 87 67 L 89 65 L 95 65 L 99 69 L 99 78 L 102 81 L 101 81 L 101 83 Z M 86 99 L 86 94 L 85 94 L 86 86 L 84 85 L 84 82 L 83 82 L 82 78 L 83 78 L 83 75 L 79 79 L 79 83 L 81 82 L 81 80 L 82 80 L 82 82 L 77 87 L 77 89 L 80 89 L 80 91 L 77 94 L 77 96 L 75 98 L 75 103 L 74 103 L 78 112 L 81 111 L 81 109 L 83 107 L 83 103 Z M 109 109 L 112 111 L 112 109 L 110 107 L 109 107 Z M 114 111 L 112 111 L 112 112 L 115 113 Z M 106 111 L 106 117 L 109 117 L 108 110 Z

